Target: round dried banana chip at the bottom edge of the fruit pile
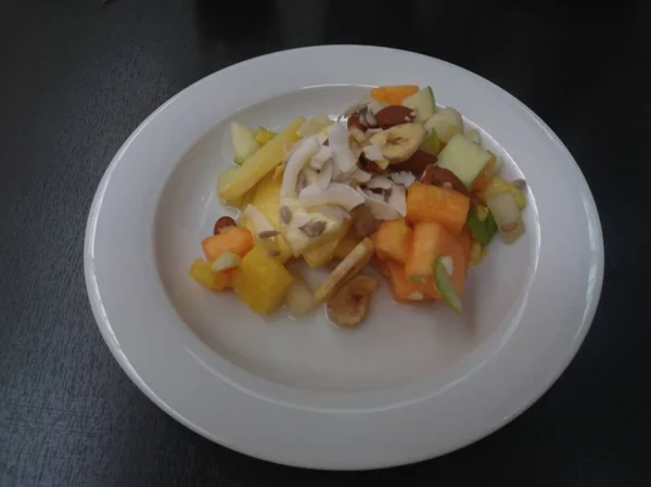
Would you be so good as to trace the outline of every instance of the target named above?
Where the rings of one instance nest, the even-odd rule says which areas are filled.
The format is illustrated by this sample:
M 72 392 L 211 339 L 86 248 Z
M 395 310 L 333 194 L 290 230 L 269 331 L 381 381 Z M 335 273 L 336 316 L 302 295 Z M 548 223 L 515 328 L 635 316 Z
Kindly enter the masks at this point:
M 367 316 L 371 295 L 378 280 L 370 275 L 356 275 L 328 302 L 328 316 L 342 326 L 355 326 Z

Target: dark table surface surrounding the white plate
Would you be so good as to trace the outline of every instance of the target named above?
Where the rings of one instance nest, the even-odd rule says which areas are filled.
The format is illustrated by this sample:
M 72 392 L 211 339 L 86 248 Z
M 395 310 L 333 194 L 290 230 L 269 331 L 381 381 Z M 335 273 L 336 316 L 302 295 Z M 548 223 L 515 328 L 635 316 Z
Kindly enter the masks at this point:
M 2 1 L 0 486 L 650 486 L 651 4 L 571 3 Z M 560 136 L 599 207 L 605 280 L 577 357 L 522 416 L 437 460 L 315 472 L 214 445 L 131 384 L 87 300 L 86 218 L 128 134 L 209 73 L 318 43 L 490 79 Z

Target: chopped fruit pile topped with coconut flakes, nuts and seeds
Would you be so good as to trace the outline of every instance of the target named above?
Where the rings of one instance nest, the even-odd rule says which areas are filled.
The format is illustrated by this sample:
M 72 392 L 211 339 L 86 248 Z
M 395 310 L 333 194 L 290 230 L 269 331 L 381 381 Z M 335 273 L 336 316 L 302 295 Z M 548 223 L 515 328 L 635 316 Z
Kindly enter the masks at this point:
M 461 313 L 467 270 L 496 233 L 511 244 L 524 232 L 526 184 L 499 177 L 501 158 L 430 87 L 378 87 L 335 119 L 297 117 L 278 133 L 233 121 L 230 133 L 235 166 L 217 191 L 239 218 L 216 221 L 189 273 L 258 313 L 326 304 L 355 326 L 379 285 L 368 266 L 396 302 Z M 295 259 L 332 270 L 312 290 L 285 267 Z

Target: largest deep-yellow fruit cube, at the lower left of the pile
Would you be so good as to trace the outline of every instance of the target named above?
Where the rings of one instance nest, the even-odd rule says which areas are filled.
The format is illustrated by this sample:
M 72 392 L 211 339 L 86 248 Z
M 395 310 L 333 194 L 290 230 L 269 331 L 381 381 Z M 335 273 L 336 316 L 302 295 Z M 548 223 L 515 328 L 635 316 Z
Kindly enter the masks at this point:
M 267 315 L 284 298 L 293 277 L 263 247 L 254 247 L 234 270 L 233 287 L 255 312 Z

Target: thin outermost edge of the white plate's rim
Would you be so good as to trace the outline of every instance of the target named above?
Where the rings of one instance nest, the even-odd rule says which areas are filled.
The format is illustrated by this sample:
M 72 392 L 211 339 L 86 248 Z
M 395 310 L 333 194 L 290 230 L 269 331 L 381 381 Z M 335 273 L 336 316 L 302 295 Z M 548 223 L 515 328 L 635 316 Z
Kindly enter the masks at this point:
M 86 233 L 85 233 L 85 247 L 84 247 L 84 267 L 85 267 L 85 278 L 86 278 L 86 284 L 87 284 L 87 292 L 89 295 L 89 300 L 91 304 L 91 308 L 93 311 L 93 316 L 94 319 L 98 323 L 98 328 L 100 329 L 100 332 L 102 334 L 102 337 L 104 338 L 104 341 L 106 342 L 111 353 L 113 354 L 113 356 L 115 357 L 116 361 L 120 364 L 120 367 L 123 368 L 123 370 L 127 373 L 127 375 L 129 376 L 129 379 L 131 379 L 131 381 L 138 386 L 138 388 L 140 388 L 140 390 L 143 392 L 143 394 L 145 394 L 145 396 L 148 396 L 156 406 L 158 406 L 161 409 L 163 409 L 165 412 L 167 412 L 170 416 L 173 416 L 175 420 L 179 421 L 180 423 L 182 423 L 183 425 L 186 425 L 187 427 L 189 427 L 190 430 L 201 434 L 202 436 L 206 437 L 207 439 L 210 439 L 213 441 L 217 441 L 230 449 L 233 449 L 235 451 L 240 451 L 243 452 L 245 454 L 250 454 L 253 457 L 257 457 L 257 458 L 263 458 L 265 460 L 268 461 L 272 461 L 272 462 L 277 462 L 277 463 L 283 463 L 283 464 L 291 464 L 291 465 L 296 465 L 296 466 L 307 466 L 307 467 L 321 467 L 321 469 L 337 469 L 337 470 L 365 470 L 365 469 L 372 469 L 372 467 L 386 467 L 386 466 L 396 466 L 396 465 L 401 465 L 401 464 L 407 464 L 407 463 L 413 463 L 413 462 L 418 462 L 418 461 L 422 461 L 422 460 L 426 460 L 429 458 L 432 458 L 430 453 L 424 452 L 422 458 L 412 458 L 409 460 L 396 460 L 395 462 L 384 462 L 382 464 L 366 464 L 366 465 L 356 465 L 355 462 L 350 462 L 350 464 L 336 464 L 336 465 L 328 465 L 326 464 L 305 464 L 304 462 L 301 463 L 293 463 L 291 460 L 288 461 L 288 459 L 283 459 L 283 460 L 279 460 L 279 459 L 275 459 L 272 457 L 261 457 L 259 454 L 256 454 L 252 451 L 248 451 L 246 448 L 242 448 L 240 445 L 232 445 L 232 444 L 228 444 L 228 443 L 222 443 L 219 440 L 219 438 L 216 437 L 216 435 L 206 432 L 204 430 L 202 430 L 201 427 L 199 427 L 196 424 L 194 424 L 191 420 L 187 419 L 186 416 L 183 416 L 179 411 L 177 411 L 176 409 L 174 409 L 173 407 L 170 407 L 164 399 L 162 399 L 148 384 L 141 377 L 141 375 L 138 373 L 138 371 L 132 367 L 130 360 L 128 359 L 128 357 L 126 356 L 126 354 L 124 353 L 123 348 L 119 345 L 119 342 L 117 341 L 115 334 L 113 333 L 112 330 L 112 325 L 108 322 L 108 319 L 104 312 L 104 309 L 102 307 L 102 303 L 101 303 L 101 295 L 100 295 L 100 291 L 97 286 L 97 281 L 94 279 L 94 267 L 92 265 L 92 253 L 91 253 L 91 246 L 92 243 L 94 241 L 95 238 L 95 230 L 97 230 L 97 225 L 98 225 L 98 217 L 99 217 L 99 212 L 101 209 L 101 204 L 102 204 L 102 200 L 103 200 L 103 195 L 106 191 L 106 188 L 108 187 L 110 182 L 111 182 L 111 176 L 113 174 L 113 171 L 115 170 L 116 166 L 118 165 L 119 161 L 124 157 L 125 153 L 129 150 L 129 146 L 131 145 L 131 143 L 136 140 L 136 138 L 140 134 L 140 132 L 155 118 L 157 117 L 162 112 L 164 112 L 175 100 L 177 100 L 178 98 L 181 98 L 184 93 L 187 93 L 189 90 L 192 90 L 194 87 L 196 87 L 197 85 L 204 84 L 204 82 L 209 82 L 209 79 L 213 76 L 216 76 L 218 73 L 225 73 L 231 69 L 238 69 L 239 67 L 246 65 L 246 64 L 252 64 L 252 63 L 257 63 L 259 62 L 261 59 L 265 57 L 272 57 L 272 56 L 278 56 L 278 55 L 293 55 L 295 53 L 301 53 L 304 51 L 315 51 L 315 50 L 329 50 L 329 49 L 365 49 L 365 50 L 375 50 L 378 52 L 380 51 L 385 51 L 385 52 L 391 52 L 394 55 L 418 55 L 423 57 L 423 60 L 426 60 L 426 62 L 437 62 L 437 63 L 444 63 L 446 65 L 452 66 L 455 69 L 461 69 L 463 72 L 465 72 L 467 74 L 472 75 L 475 78 L 478 78 L 478 80 L 483 84 L 488 84 L 492 87 L 494 87 L 495 89 L 501 91 L 503 94 L 506 94 L 507 97 L 511 98 L 519 106 L 520 108 L 524 110 L 528 116 L 531 117 L 531 119 L 533 121 L 535 121 L 542 131 L 545 131 L 545 133 L 548 136 L 548 138 L 551 140 L 551 142 L 554 143 L 554 145 L 561 150 L 562 152 L 564 152 L 566 154 L 566 156 L 569 157 L 570 161 L 572 161 L 572 163 L 574 164 L 574 169 L 577 172 L 577 176 L 583 180 L 583 182 L 585 183 L 585 188 L 583 188 L 582 193 L 584 196 L 584 203 L 587 204 L 586 207 L 586 213 L 589 214 L 589 216 L 591 217 L 591 223 L 595 226 L 593 230 L 597 232 L 598 234 L 598 239 L 597 239 L 597 247 L 592 249 L 591 253 L 591 264 L 593 266 L 596 266 L 597 269 L 597 283 L 596 285 L 592 287 L 592 299 L 589 303 L 586 303 L 586 307 L 585 307 L 585 312 L 584 312 L 584 319 L 583 322 L 579 326 L 578 333 L 575 336 L 575 339 L 572 343 L 572 349 L 571 353 L 567 354 L 564 359 L 562 360 L 562 363 L 556 368 L 556 373 L 553 374 L 553 376 L 551 377 L 551 380 L 548 381 L 548 384 L 546 387 L 541 388 L 540 390 L 538 390 L 538 393 L 536 395 L 531 396 L 527 400 L 521 402 L 518 407 L 512 408 L 513 411 L 512 413 L 506 418 L 502 422 L 500 423 L 496 423 L 493 424 L 490 427 L 486 428 L 482 434 L 480 434 L 478 436 L 474 436 L 472 439 L 468 440 L 468 441 L 463 441 L 460 445 L 456 445 L 456 446 L 451 446 L 448 449 L 442 450 L 441 452 L 438 452 L 436 456 L 442 456 L 442 454 L 446 454 L 450 451 L 457 450 L 459 448 L 462 448 L 464 446 L 468 446 L 474 441 L 477 441 L 490 434 L 493 434 L 495 431 L 499 430 L 500 427 L 502 427 L 505 424 L 509 423 L 510 421 L 512 421 L 514 418 L 516 418 L 518 415 L 520 415 L 522 412 L 524 412 L 526 409 L 528 409 L 535 401 L 537 401 L 547 390 L 549 390 L 549 388 L 556 383 L 556 381 L 560 377 L 560 375 L 566 370 L 567 366 L 571 363 L 571 361 L 573 360 L 573 358 L 575 357 L 578 348 L 580 347 L 580 345 L 583 344 L 585 336 L 587 335 L 587 332 L 590 328 L 590 324 L 593 320 L 593 317 L 596 315 L 597 311 L 597 307 L 599 304 L 599 297 L 601 294 L 601 289 L 602 289 L 602 282 L 603 282 L 603 268 L 604 268 L 604 253 L 603 253 L 603 236 L 602 236 L 602 230 L 601 230 L 601 223 L 600 223 L 600 219 L 599 219 L 599 214 L 598 214 L 598 209 L 597 209 L 597 205 L 595 203 L 593 196 L 591 194 L 590 188 L 587 184 L 587 181 L 585 180 L 585 177 L 583 176 L 583 172 L 580 171 L 580 168 L 578 167 L 578 165 L 576 164 L 576 161 L 574 159 L 574 157 L 572 156 L 572 154 L 570 153 L 570 151 L 566 149 L 566 146 L 561 142 L 561 140 L 558 138 L 558 136 L 549 128 L 549 126 L 547 126 L 547 124 L 545 124 L 545 121 L 542 121 L 540 119 L 540 117 L 538 117 L 531 108 L 528 108 L 524 103 L 522 103 L 519 99 L 516 99 L 514 95 L 512 95 L 511 93 L 507 92 L 506 90 L 503 90 L 502 88 L 500 88 L 499 86 L 493 84 L 492 81 L 461 67 L 458 65 L 454 65 L 451 63 L 448 63 L 446 61 L 443 60 L 438 60 L 429 55 L 424 55 L 424 54 L 420 54 L 420 53 L 416 53 L 416 52 L 411 52 L 411 51 L 405 51 L 405 50 L 399 50 L 399 49 L 392 49 L 392 48 L 383 48 L 383 47 L 372 47 L 372 46 L 359 46 L 359 44 L 330 44 L 330 46 L 320 46 L 320 47 L 308 47 L 308 48 L 297 48 L 297 49 L 291 49 L 291 50 L 285 50 L 285 51 L 278 51 L 278 52 L 273 52 L 270 54 L 265 54 L 265 55 L 260 55 L 257 57 L 253 57 L 246 61 L 243 61 L 241 63 L 237 63 L 233 64 L 231 66 L 228 66 L 219 72 L 215 72 L 213 74 L 209 74 L 207 76 L 205 76 L 204 78 L 197 80 L 196 82 L 190 85 L 189 87 L 184 88 L 183 90 L 181 90 L 180 92 L 178 92 L 177 94 L 173 95 L 170 99 L 168 99 L 166 102 L 164 102 L 159 107 L 157 107 L 152 114 L 150 114 L 137 128 L 136 130 L 133 130 L 133 132 L 127 138 L 127 140 L 124 142 L 124 144 L 120 146 L 120 149 L 117 151 L 117 153 L 115 154 L 115 156 L 112 158 L 110 165 L 107 166 L 102 180 L 100 182 L 100 184 L 98 185 L 97 192 L 93 196 L 93 201 L 90 207 L 90 212 L 89 212 L 89 217 L 88 217 L 88 221 L 87 221 L 87 227 L 86 227 Z M 499 142 L 499 141 L 498 141 Z

